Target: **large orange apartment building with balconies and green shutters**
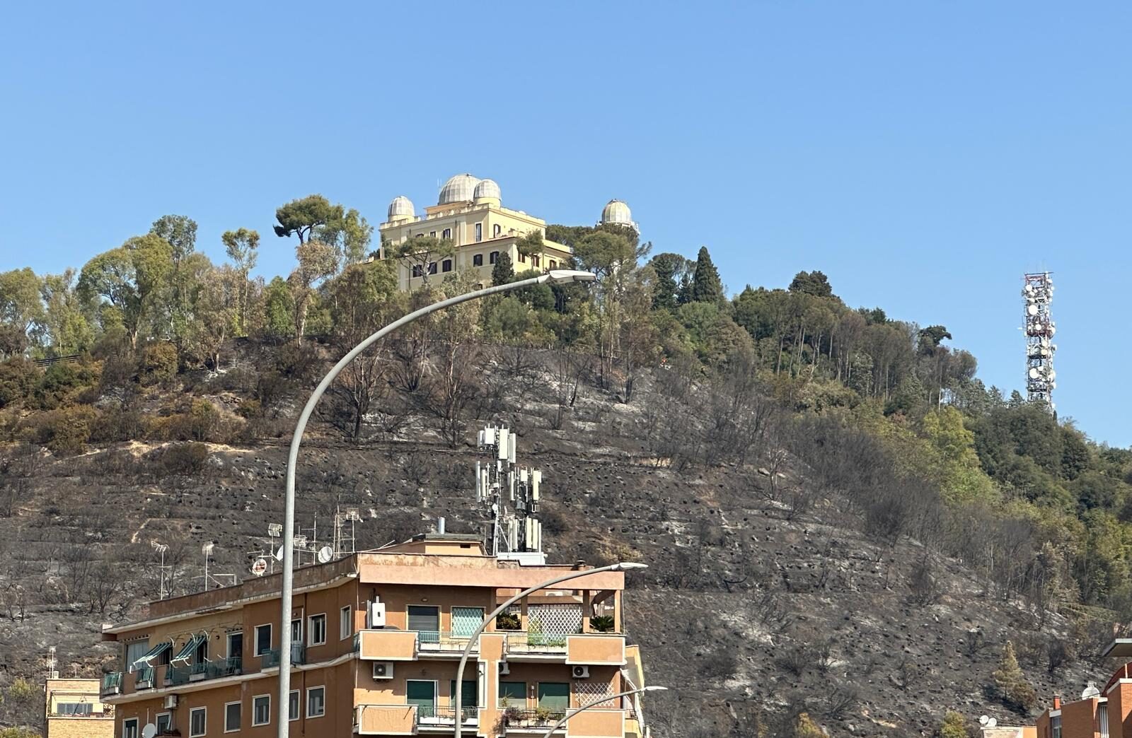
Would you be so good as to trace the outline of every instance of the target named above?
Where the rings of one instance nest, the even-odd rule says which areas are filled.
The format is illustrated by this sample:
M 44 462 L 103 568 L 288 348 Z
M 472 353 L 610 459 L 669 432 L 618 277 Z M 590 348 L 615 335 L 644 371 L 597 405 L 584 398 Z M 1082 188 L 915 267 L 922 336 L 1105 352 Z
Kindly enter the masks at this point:
M 295 570 L 292 736 L 452 735 L 456 666 L 484 613 L 571 569 L 520 566 L 477 537 L 424 534 Z M 568 711 L 643 686 L 623 627 L 620 572 L 526 598 L 490 623 L 464 672 L 466 736 L 541 736 Z M 105 675 L 114 735 L 267 738 L 276 731 L 280 576 L 149 604 L 109 627 L 123 669 Z M 559 735 L 641 737 L 638 700 L 599 704 Z

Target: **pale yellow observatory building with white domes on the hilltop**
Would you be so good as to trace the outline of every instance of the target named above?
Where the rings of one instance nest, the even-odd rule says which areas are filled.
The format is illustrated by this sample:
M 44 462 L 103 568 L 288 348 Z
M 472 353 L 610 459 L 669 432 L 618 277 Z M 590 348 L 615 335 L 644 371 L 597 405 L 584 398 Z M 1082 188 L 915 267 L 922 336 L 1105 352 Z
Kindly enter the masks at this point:
M 599 225 L 624 225 L 637 230 L 628 205 L 609 200 L 602 209 Z M 523 211 L 503 205 L 503 194 L 495 180 L 479 179 L 472 174 L 456 174 L 440 187 L 437 204 L 417 208 L 404 195 L 389 203 L 386 221 L 378 226 L 381 244 L 378 259 L 395 258 L 395 249 L 410 239 L 431 237 L 448 241 L 454 247 L 449 255 L 403 263 L 397 268 L 397 286 L 402 291 L 419 288 L 426 282 L 443 280 L 461 269 L 475 269 L 481 284 L 491 283 L 491 268 L 506 254 L 515 272 L 535 269 L 549 272 L 565 268 L 573 251 L 563 243 L 543 238 L 540 254 L 528 257 L 520 254 L 516 243 L 523 237 L 538 232 L 546 237 L 547 222 Z

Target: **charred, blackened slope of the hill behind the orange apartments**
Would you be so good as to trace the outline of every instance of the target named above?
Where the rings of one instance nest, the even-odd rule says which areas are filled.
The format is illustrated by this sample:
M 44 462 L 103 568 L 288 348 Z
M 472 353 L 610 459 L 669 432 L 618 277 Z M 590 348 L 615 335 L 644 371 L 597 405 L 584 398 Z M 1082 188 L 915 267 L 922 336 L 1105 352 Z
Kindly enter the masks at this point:
M 234 381 L 240 367 L 271 355 L 247 343 L 231 351 L 233 369 L 152 388 L 140 411 L 208 401 L 224 421 L 248 400 Z M 1018 721 L 986 694 L 1007 638 L 1044 697 L 1104 676 L 1072 657 L 1050 669 L 1048 654 L 1050 644 L 1095 653 L 1110 632 L 1073 634 L 1065 617 L 1039 617 L 910 527 L 878 537 L 827 483 L 829 470 L 788 441 L 787 418 L 746 463 L 681 461 L 655 443 L 676 370 L 644 371 L 629 404 L 580 381 L 555 429 L 558 404 L 522 387 L 552 384 L 560 355 L 525 352 L 516 371 L 507 351 L 483 350 L 483 367 L 509 380 L 477 420 L 516 428 L 524 458 L 544 470 L 550 556 L 650 564 L 631 577 L 628 628 L 649 678 L 672 688 L 650 702 L 658 736 L 757 735 L 757 723 L 789 735 L 801 711 L 831 735 L 855 736 L 931 735 L 947 709 Z M 280 431 L 301 394 L 280 402 Z M 478 530 L 474 420 L 453 445 L 427 413 L 409 418 L 361 443 L 318 423 L 301 457 L 300 524 L 319 513 L 321 527 L 336 503 L 357 503 L 369 518 L 360 546 L 429 530 L 441 515 L 448 530 Z M 685 440 L 697 435 L 689 428 Z M 98 643 L 100 624 L 155 594 L 151 541 L 171 544 L 178 591 L 200 586 L 192 577 L 206 540 L 217 542 L 213 572 L 247 576 L 247 552 L 266 546 L 266 524 L 282 512 L 284 443 L 91 443 L 74 456 L 9 447 L 6 474 L 20 494 L 0 518 L 3 680 L 40 673 L 51 645 L 83 672 L 109 668 L 115 653 Z M 773 471 L 767 457 L 779 460 Z

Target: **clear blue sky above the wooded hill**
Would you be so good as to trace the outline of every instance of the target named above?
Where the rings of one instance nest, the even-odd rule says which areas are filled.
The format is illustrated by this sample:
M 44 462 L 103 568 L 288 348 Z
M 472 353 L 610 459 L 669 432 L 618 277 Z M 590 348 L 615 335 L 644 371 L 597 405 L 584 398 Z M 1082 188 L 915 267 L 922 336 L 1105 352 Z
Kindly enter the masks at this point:
M 728 286 L 822 269 L 1021 388 L 1021 275 L 1057 285 L 1063 417 L 1132 444 L 1126 2 L 17 3 L 0 269 L 82 266 L 165 213 L 264 234 L 321 192 L 371 223 L 470 171 Z

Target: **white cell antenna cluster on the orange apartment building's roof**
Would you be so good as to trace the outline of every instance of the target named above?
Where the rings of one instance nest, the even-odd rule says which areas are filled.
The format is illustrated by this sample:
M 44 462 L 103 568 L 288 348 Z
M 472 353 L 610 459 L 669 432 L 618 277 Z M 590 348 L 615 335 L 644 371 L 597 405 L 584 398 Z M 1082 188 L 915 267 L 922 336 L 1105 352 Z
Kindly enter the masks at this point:
M 538 518 L 542 472 L 515 461 L 518 438 L 506 427 L 479 431 L 484 458 L 475 462 L 475 497 L 490 516 L 490 556 L 541 563 L 542 522 Z

